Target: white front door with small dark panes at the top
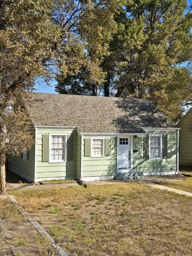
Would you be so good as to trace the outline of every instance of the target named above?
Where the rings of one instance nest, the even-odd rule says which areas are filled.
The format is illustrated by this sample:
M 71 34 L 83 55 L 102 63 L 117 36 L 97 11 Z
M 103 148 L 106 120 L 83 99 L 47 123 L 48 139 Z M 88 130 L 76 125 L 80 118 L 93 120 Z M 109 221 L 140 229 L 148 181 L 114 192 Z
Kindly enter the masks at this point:
M 131 168 L 130 136 L 117 137 L 117 172 Z

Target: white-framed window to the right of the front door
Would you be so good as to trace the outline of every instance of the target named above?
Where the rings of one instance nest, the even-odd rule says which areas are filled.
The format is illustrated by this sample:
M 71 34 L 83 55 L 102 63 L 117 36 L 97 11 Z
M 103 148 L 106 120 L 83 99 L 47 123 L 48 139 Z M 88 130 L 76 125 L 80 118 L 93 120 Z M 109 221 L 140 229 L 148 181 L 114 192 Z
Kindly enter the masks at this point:
M 149 135 L 149 159 L 162 159 L 162 135 Z

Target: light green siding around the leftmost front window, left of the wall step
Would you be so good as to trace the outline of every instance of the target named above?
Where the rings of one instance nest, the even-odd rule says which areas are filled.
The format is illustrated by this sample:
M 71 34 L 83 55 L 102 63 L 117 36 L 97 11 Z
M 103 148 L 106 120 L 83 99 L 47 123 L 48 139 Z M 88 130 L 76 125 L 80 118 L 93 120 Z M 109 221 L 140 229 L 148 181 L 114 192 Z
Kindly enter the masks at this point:
M 67 134 L 73 135 L 73 161 L 64 163 L 42 162 L 42 135 L 48 134 Z M 36 178 L 65 178 L 76 177 L 76 155 L 77 155 L 77 132 L 76 130 L 37 130 L 37 156 L 36 156 Z M 68 136 L 69 137 L 69 136 Z

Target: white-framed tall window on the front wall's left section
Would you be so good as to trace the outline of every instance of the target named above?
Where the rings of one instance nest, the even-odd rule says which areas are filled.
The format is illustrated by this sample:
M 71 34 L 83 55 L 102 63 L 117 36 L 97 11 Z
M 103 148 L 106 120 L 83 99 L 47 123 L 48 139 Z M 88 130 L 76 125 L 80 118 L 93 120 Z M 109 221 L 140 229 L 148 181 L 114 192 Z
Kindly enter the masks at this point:
M 49 135 L 49 162 L 66 161 L 66 135 Z

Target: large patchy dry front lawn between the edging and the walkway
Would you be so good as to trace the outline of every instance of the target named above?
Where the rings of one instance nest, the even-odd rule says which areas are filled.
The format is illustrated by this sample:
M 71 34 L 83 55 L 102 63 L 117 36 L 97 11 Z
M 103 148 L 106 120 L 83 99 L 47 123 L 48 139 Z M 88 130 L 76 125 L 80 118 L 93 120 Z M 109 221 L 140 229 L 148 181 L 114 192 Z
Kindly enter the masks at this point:
M 192 255 L 192 198 L 143 184 L 11 191 L 69 255 Z

